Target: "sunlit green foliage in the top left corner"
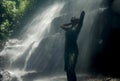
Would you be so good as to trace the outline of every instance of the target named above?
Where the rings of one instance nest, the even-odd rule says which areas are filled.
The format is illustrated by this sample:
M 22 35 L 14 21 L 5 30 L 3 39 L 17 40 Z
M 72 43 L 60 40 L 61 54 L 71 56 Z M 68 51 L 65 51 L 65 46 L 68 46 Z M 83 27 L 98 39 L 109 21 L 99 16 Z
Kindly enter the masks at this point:
M 13 28 L 32 5 L 33 0 L 0 0 L 0 39 L 11 36 Z

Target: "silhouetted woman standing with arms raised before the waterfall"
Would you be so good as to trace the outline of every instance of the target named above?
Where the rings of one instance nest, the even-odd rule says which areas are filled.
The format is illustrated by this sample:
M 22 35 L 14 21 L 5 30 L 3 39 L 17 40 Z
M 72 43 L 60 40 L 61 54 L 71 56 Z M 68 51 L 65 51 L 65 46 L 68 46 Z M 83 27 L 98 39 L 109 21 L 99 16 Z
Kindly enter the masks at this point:
M 77 57 L 78 57 L 77 38 L 81 30 L 81 27 L 83 25 L 84 16 L 85 16 L 85 12 L 82 11 L 80 15 L 80 19 L 72 17 L 70 23 L 64 24 L 63 26 L 61 26 L 61 28 L 66 31 L 64 70 L 67 73 L 68 81 L 77 81 L 76 73 L 75 73 L 75 66 L 76 66 Z

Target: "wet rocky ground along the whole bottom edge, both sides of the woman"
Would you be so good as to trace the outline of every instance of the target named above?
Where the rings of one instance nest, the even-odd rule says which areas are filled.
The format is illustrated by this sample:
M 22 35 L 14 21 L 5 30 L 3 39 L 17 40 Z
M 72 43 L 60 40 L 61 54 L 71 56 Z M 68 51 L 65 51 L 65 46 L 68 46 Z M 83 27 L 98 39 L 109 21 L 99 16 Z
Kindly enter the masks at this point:
M 1 80 L 0 81 L 67 81 L 67 78 L 65 75 L 63 76 L 49 76 L 49 77 L 37 77 L 37 78 L 32 78 L 29 77 L 27 79 L 21 78 L 21 80 L 18 78 L 12 79 L 12 76 L 10 76 L 10 73 L 7 71 L 1 71 L 1 74 L 3 75 L 4 80 L 0 76 Z M 34 76 L 34 75 L 33 75 Z M 77 81 L 120 81 L 119 78 L 112 78 L 112 77 L 104 77 L 101 75 L 78 75 L 77 76 Z

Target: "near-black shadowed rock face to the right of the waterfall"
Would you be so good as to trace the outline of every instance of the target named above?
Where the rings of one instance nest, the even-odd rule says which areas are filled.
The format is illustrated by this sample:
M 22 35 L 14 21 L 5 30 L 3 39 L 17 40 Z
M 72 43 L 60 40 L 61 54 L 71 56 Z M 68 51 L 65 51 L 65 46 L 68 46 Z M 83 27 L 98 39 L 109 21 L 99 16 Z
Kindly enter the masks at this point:
M 95 43 L 96 48 L 94 49 L 95 54 L 92 62 L 98 72 L 107 76 L 120 77 L 120 0 L 113 0 L 113 2 L 111 0 L 110 2 L 108 2 L 109 8 L 102 12 L 96 21 L 102 24 L 97 24 L 95 30 L 99 31 L 99 28 L 103 28 L 100 35 L 103 41 L 101 45 Z

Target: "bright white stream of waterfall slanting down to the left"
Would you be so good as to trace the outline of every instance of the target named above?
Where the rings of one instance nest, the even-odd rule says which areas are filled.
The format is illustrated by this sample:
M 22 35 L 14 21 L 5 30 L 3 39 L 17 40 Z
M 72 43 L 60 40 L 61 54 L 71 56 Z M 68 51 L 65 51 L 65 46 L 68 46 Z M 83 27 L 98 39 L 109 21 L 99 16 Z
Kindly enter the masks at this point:
M 29 58 L 45 37 L 46 33 L 48 33 L 52 20 L 59 16 L 63 6 L 64 3 L 57 2 L 48 6 L 24 27 L 24 32 L 21 32 L 21 39 L 9 39 L 4 50 L 0 53 L 1 55 L 8 55 L 10 57 L 10 67 L 7 69 L 9 69 L 11 74 L 19 76 L 19 81 L 22 81 L 20 76 L 35 72 L 25 71 Z M 14 63 L 22 56 L 26 57 L 25 59 L 21 59 L 21 61 L 25 60 L 22 68 L 19 68 L 19 66 L 14 67 Z

